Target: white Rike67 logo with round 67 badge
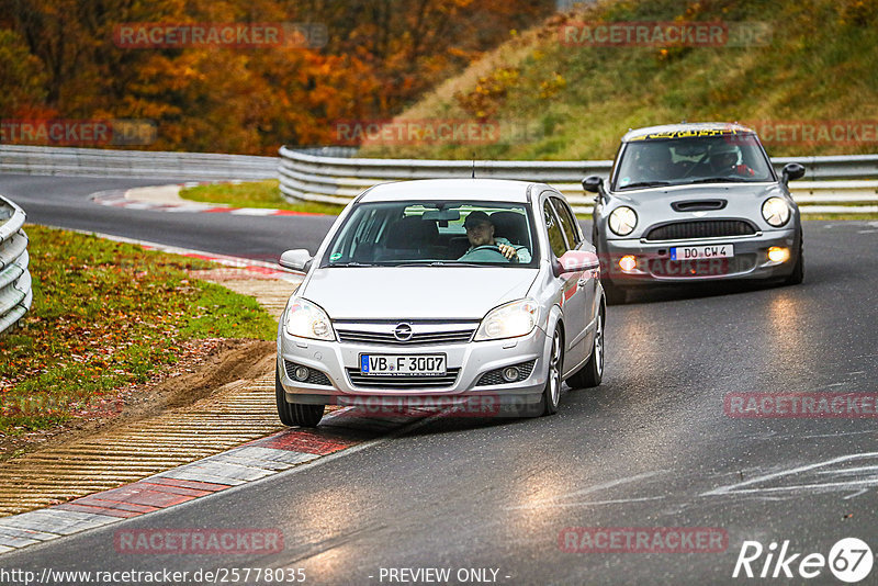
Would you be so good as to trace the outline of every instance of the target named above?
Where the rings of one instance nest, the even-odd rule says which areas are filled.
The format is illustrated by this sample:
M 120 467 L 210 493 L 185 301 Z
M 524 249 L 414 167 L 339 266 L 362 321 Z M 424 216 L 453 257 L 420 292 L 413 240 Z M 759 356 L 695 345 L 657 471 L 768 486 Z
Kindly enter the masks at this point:
M 829 556 L 822 553 L 793 552 L 789 540 L 784 541 L 779 550 L 775 541 L 767 548 L 758 541 L 744 541 L 732 577 L 812 579 L 825 575 L 829 567 L 837 579 L 856 584 L 871 573 L 874 563 L 871 549 L 857 538 L 838 540 L 830 549 Z

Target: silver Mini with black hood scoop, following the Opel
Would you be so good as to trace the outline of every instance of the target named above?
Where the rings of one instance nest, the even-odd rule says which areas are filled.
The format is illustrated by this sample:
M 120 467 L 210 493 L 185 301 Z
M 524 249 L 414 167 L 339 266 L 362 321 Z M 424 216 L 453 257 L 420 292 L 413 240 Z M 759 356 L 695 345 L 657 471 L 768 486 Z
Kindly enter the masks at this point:
M 628 132 L 609 183 L 583 181 L 595 199 L 593 241 L 610 303 L 629 288 L 716 279 L 804 275 L 799 209 L 756 133 L 739 124 L 652 126 Z

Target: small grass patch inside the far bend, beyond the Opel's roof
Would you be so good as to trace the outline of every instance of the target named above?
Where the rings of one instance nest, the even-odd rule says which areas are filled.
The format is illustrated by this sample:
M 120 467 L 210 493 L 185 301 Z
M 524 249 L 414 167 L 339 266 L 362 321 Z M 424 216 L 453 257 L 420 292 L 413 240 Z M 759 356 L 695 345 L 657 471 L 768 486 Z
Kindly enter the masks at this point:
M 303 214 L 338 215 L 342 210 L 341 205 L 328 203 L 290 203 L 281 195 L 277 180 L 196 185 L 181 190 L 180 198 L 193 202 L 224 203 L 235 207 L 290 210 Z

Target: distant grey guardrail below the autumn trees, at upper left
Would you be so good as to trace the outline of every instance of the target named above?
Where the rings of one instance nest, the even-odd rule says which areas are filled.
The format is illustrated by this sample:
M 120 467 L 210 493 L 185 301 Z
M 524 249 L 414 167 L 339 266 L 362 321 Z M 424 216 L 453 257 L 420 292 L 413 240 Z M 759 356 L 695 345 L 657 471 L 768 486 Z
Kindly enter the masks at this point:
M 274 179 L 277 168 L 275 157 L 0 145 L 7 173 L 247 181 Z

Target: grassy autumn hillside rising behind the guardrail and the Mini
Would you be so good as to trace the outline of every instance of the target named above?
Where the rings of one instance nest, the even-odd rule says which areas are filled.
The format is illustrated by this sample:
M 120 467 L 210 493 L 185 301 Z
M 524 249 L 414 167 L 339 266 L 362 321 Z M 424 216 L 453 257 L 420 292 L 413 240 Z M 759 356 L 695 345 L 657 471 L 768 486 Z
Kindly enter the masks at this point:
M 723 23 L 730 37 L 713 46 L 562 43 L 571 23 L 671 21 Z M 611 158 L 629 127 L 682 120 L 753 124 L 773 156 L 878 153 L 878 0 L 598 2 L 515 35 L 401 117 L 500 121 L 500 139 L 373 144 L 365 156 Z M 786 136 L 774 136 L 779 128 Z

